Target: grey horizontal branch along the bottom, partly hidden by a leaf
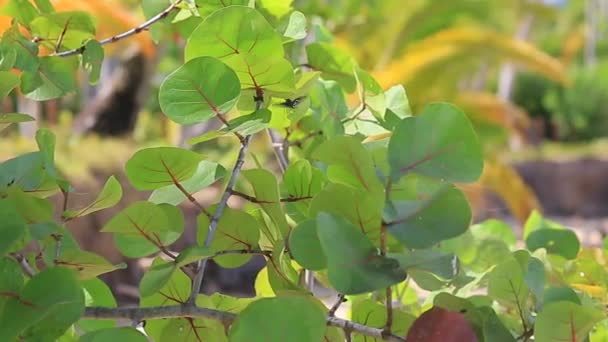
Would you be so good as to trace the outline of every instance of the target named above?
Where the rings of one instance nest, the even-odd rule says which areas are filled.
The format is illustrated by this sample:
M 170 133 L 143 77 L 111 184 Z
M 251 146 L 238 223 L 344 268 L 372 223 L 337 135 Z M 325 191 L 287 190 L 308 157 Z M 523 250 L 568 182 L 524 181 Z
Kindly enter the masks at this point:
M 119 308 L 104 308 L 104 307 L 87 307 L 82 318 L 91 319 L 127 319 L 131 321 L 153 320 L 163 318 L 206 318 L 220 321 L 224 324 L 231 324 L 237 317 L 232 312 L 219 311 L 208 308 L 201 308 L 192 305 L 173 305 L 173 306 L 158 306 L 158 307 L 119 307 Z M 363 324 L 355 323 L 337 317 L 327 317 L 327 325 L 342 328 L 345 331 L 352 331 L 357 334 L 379 338 L 391 342 L 404 342 L 405 339 L 393 335 L 386 334 L 382 329 L 368 327 Z

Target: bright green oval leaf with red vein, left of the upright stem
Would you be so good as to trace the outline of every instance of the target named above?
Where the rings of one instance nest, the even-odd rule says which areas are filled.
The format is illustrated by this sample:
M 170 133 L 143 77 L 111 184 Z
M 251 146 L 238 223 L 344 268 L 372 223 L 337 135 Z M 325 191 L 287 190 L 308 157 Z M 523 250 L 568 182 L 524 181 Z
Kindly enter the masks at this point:
M 129 182 L 139 190 L 155 190 L 190 179 L 202 156 L 177 147 L 154 147 L 136 152 L 125 167 Z

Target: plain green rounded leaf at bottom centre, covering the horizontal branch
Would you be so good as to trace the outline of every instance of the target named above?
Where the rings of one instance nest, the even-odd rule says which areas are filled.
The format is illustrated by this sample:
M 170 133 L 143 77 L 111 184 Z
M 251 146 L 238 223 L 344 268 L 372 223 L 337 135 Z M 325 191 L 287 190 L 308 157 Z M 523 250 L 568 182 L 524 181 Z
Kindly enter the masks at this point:
M 249 304 L 230 329 L 232 342 L 310 342 L 322 341 L 324 335 L 324 307 L 312 298 L 295 295 Z

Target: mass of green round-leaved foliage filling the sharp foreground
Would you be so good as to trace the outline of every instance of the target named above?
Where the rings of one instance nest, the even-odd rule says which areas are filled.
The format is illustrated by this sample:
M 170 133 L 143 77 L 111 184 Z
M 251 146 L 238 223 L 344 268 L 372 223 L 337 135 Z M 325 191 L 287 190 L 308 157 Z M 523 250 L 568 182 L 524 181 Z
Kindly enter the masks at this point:
M 502 222 L 469 227 L 471 209 L 455 183 L 476 181 L 483 157 L 467 115 L 445 103 L 412 112 L 402 86 L 384 91 L 291 5 L 180 1 L 153 24 L 169 28 L 151 28 L 159 41 L 188 32 L 185 61 L 159 91 L 167 117 L 184 125 L 219 119 L 223 127 L 191 143 L 234 138 L 239 152 L 224 165 L 154 146 L 127 161 L 128 181 L 150 197 L 129 203 L 102 233 L 125 257 L 154 256 L 139 283 L 139 308 L 117 309 L 99 279 L 125 265 L 82 250 L 64 226 L 116 205 L 117 178 L 82 208 L 55 208 L 49 197 L 74 189 L 61 178 L 56 138 L 45 129 L 38 151 L 0 163 L 0 340 L 146 340 L 117 326 L 122 318 L 145 320 L 145 335 L 156 341 L 344 341 L 351 333 L 377 341 L 429 331 L 478 341 L 606 336 L 600 308 L 608 271 L 598 251 L 538 213 L 526 223 L 525 249 Z M 172 5 L 143 6 L 151 18 Z M 4 13 L 42 40 L 16 26 L 4 33 L 0 97 L 17 87 L 38 101 L 62 97 L 76 88 L 78 67 L 98 79 L 103 47 L 92 40 L 88 14 L 57 13 L 43 0 L 11 0 Z M 304 48 L 307 30 L 319 39 Z M 81 58 L 57 55 L 67 49 Z M 28 120 L 2 114 L 0 128 Z M 282 174 L 247 150 L 270 129 L 282 140 L 272 146 L 287 164 Z M 204 207 L 194 195 L 218 181 L 222 194 Z M 231 196 L 246 204 L 228 205 Z M 174 250 L 185 201 L 198 210 L 196 240 Z M 267 262 L 256 298 L 198 293 L 209 259 L 238 267 L 254 254 Z M 302 281 L 308 272 L 348 296 L 357 325 L 329 317 L 340 303 L 329 311 L 312 297 Z M 417 291 L 429 293 L 422 300 Z

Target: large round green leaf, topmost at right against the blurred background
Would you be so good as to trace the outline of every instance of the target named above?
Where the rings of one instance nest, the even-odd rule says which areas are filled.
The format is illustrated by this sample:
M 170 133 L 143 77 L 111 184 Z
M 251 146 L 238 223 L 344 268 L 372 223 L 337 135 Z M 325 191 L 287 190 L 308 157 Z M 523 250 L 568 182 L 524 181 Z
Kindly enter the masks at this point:
M 481 146 L 466 115 L 446 103 L 401 120 L 390 139 L 393 179 L 408 172 L 450 181 L 472 182 L 483 169 Z

